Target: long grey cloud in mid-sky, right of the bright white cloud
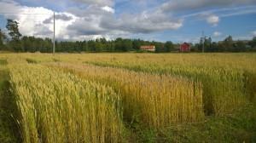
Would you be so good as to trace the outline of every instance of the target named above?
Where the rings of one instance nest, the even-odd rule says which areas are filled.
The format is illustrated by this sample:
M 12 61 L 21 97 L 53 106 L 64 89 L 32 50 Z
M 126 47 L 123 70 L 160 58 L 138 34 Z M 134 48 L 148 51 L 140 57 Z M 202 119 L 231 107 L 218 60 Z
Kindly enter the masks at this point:
M 94 13 L 93 11 L 96 11 Z M 67 27 L 73 37 L 88 35 L 91 37 L 125 37 L 134 33 L 150 33 L 154 31 L 176 30 L 183 26 L 183 20 L 176 20 L 163 13 L 144 12 L 142 14 L 121 14 L 116 17 L 106 10 L 88 8 L 84 17 Z

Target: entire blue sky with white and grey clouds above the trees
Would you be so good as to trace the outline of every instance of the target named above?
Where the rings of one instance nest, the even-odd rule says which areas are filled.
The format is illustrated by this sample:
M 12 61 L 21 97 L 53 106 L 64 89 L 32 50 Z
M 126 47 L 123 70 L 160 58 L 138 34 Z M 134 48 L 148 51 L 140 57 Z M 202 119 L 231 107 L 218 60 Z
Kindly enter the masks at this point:
M 196 43 L 202 31 L 213 41 L 256 36 L 255 0 L 0 0 L 0 28 L 15 19 L 23 35 L 52 37 L 53 12 L 60 40 Z

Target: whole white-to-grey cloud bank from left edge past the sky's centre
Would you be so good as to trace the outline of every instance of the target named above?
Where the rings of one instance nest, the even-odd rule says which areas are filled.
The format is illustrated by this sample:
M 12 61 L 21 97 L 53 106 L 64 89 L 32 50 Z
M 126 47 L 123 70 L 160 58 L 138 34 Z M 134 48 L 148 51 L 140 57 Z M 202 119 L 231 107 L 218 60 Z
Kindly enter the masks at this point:
M 4 17 L 17 20 L 20 23 L 20 32 L 23 35 L 52 37 L 52 14 L 54 11 L 43 7 L 23 6 L 12 0 L 1 1 L 0 9 L 3 9 L 3 12 L 15 11 L 15 13 L 19 13 L 15 15 L 4 14 Z M 183 26 L 182 19 L 174 19 L 158 10 L 116 16 L 114 9 L 110 6 L 91 4 L 85 9 L 73 7 L 69 8 L 67 12 L 55 13 L 55 36 L 64 40 L 127 37 L 134 33 L 176 30 L 181 26 Z

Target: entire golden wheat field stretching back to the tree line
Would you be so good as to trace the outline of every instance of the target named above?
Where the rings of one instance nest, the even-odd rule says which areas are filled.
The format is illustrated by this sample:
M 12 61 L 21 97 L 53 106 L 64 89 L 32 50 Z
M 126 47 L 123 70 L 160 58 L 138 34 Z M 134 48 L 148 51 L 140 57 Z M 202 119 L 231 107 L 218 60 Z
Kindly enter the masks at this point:
M 256 101 L 256 54 L 0 54 L 22 142 L 131 142 Z M 1 66 L 1 65 L 0 65 Z M 129 135 L 128 135 L 129 136 Z

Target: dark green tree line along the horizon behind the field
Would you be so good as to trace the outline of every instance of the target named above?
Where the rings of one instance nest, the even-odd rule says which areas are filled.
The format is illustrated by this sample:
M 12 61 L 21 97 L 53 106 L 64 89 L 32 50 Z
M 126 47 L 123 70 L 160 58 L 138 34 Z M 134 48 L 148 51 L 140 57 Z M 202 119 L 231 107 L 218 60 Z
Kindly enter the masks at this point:
M 53 41 L 51 38 L 22 36 L 19 31 L 19 23 L 15 20 L 7 20 L 8 34 L 0 29 L 0 50 L 13 52 L 41 52 L 51 53 Z M 89 41 L 55 41 L 55 52 L 143 52 L 142 45 L 154 45 L 156 53 L 175 52 L 179 49 L 178 43 L 167 41 L 166 43 L 145 41 L 141 39 L 128 39 L 118 37 L 115 40 L 98 38 Z M 256 37 L 247 41 L 234 41 L 231 36 L 224 41 L 212 42 L 212 38 L 201 39 L 200 43 L 190 43 L 191 52 L 250 52 L 256 51 Z

